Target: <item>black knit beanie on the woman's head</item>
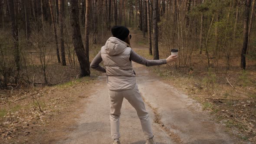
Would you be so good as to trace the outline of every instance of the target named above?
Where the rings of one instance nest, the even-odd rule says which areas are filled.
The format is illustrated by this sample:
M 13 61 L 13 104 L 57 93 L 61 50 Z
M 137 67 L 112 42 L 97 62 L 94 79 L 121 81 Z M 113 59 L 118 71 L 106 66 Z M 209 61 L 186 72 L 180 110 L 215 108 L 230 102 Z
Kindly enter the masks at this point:
M 114 37 L 124 41 L 130 31 L 125 26 L 114 26 L 111 28 L 111 33 Z

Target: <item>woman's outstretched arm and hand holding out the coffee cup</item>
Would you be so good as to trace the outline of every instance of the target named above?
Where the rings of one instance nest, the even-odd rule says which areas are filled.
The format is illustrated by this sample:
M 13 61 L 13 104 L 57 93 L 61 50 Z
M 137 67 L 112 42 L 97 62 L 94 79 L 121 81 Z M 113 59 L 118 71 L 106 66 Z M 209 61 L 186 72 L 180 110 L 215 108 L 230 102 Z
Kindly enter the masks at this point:
M 169 56 L 170 57 L 170 56 Z M 168 58 L 169 58 L 168 57 Z M 130 55 L 130 60 L 137 62 L 141 65 L 146 65 L 146 66 L 153 66 L 153 65 L 164 65 L 169 62 L 169 59 L 158 59 L 158 60 L 150 60 L 146 59 L 143 56 L 138 55 L 135 51 L 131 49 L 131 55 Z M 175 57 L 177 59 L 177 57 Z

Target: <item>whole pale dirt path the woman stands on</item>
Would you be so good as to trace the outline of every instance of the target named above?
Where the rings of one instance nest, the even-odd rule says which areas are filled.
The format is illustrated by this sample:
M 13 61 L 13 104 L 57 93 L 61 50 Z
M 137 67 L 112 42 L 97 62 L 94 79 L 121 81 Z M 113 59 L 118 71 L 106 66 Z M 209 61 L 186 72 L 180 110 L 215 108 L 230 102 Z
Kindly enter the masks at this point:
M 136 38 L 137 37 L 137 38 Z M 133 39 L 138 39 L 133 35 Z M 132 42 L 133 49 L 143 47 Z M 144 65 L 133 63 L 138 88 L 147 103 L 157 144 L 233 144 L 222 125 L 211 121 L 200 104 L 150 74 Z M 105 76 L 98 77 L 86 106 L 76 118 L 77 126 L 59 144 L 111 144 L 109 104 Z M 121 143 L 144 144 L 136 111 L 127 100 L 121 110 Z

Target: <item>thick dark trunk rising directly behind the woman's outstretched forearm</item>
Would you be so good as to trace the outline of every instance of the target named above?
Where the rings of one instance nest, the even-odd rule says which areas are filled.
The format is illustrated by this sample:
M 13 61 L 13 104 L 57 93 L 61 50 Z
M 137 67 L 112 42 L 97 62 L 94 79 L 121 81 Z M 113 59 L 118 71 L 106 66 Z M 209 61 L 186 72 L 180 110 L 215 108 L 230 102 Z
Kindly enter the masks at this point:
M 159 59 L 158 53 L 158 0 L 153 2 L 153 36 L 154 36 L 154 59 Z

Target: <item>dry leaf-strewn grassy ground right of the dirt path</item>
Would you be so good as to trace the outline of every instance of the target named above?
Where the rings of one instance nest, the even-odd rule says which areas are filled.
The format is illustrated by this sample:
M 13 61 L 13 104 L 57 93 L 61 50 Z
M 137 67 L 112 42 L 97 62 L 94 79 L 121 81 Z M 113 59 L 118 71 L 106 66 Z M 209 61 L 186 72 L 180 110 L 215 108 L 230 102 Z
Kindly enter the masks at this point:
M 160 50 L 160 59 L 166 53 Z M 148 49 L 135 49 L 141 56 L 153 59 Z M 195 52 L 198 53 L 198 52 Z M 256 65 L 247 60 L 247 69 L 240 70 L 240 57 L 233 57 L 230 70 L 226 70 L 225 60 L 220 59 L 215 68 L 207 70 L 202 59 L 193 55 L 192 67 L 175 64 L 147 67 L 166 82 L 200 101 L 205 110 L 216 116 L 216 121 L 226 125 L 230 131 L 236 130 L 242 141 L 256 141 Z M 228 81 L 227 81 L 228 79 Z M 231 86 L 231 85 L 233 86 Z

